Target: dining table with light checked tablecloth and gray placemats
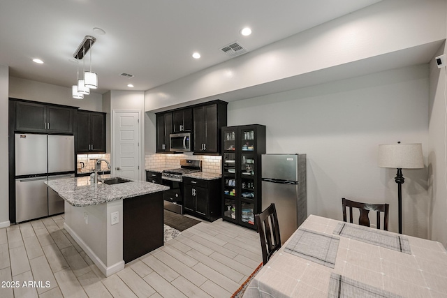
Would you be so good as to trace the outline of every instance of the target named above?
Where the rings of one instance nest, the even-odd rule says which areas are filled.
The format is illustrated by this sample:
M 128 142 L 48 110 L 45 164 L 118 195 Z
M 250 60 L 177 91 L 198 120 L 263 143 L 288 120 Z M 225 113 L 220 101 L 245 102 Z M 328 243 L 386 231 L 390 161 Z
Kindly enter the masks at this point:
M 254 297 L 447 297 L 438 241 L 310 215 L 244 292 Z

